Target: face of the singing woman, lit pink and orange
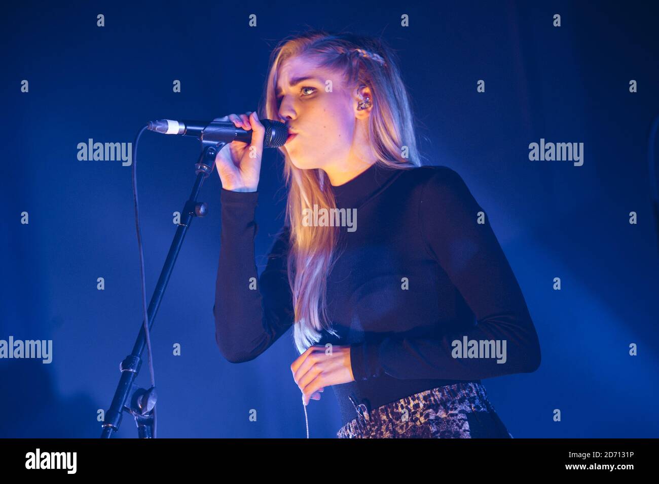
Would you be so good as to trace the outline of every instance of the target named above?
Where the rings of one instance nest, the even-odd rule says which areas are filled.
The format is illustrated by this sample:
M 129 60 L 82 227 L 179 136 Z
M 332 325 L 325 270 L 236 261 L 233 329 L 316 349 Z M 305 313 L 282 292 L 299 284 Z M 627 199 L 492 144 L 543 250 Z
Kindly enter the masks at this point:
M 329 87 L 326 90 L 328 81 L 331 92 Z M 293 165 L 299 169 L 325 169 L 349 163 L 358 134 L 357 90 L 351 92 L 339 74 L 318 67 L 306 57 L 284 61 L 276 89 L 279 117 L 289 131 L 297 133 L 283 146 Z

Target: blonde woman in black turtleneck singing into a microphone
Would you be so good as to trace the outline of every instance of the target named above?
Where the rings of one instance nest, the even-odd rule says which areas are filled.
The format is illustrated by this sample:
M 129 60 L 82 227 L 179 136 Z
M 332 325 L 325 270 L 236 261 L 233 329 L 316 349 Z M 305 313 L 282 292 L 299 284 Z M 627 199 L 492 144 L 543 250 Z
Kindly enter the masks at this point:
M 353 34 L 288 38 L 264 101 L 221 118 L 252 130 L 215 160 L 223 356 L 253 360 L 293 327 L 300 356 L 273 371 L 291 371 L 305 414 L 334 390 L 339 438 L 511 438 L 481 379 L 538 369 L 538 336 L 484 209 L 453 169 L 421 166 L 393 51 Z M 260 277 L 259 117 L 290 133 L 285 224 Z

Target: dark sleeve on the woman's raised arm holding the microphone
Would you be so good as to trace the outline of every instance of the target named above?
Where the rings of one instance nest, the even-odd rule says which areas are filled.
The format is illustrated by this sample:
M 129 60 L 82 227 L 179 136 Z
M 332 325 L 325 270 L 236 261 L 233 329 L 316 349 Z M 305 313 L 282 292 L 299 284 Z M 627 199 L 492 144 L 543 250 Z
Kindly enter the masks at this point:
M 241 363 L 267 350 L 293 324 L 286 267 L 290 232 L 287 226 L 279 230 L 258 277 L 254 258 L 258 192 L 221 190 L 215 341 L 229 362 Z

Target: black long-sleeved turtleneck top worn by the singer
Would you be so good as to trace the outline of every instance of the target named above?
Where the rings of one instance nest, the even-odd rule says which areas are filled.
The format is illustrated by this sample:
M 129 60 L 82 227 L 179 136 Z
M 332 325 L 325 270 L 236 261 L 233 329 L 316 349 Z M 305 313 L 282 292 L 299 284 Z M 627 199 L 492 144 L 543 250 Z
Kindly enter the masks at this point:
M 442 166 L 372 165 L 331 190 L 339 209 L 357 209 L 356 230 L 340 227 L 327 281 L 339 336 L 324 332 L 318 342 L 351 346 L 355 381 L 332 387 L 343 423 L 357 417 L 349 396 L 375 409 L 434 387 L 538 368 L 538 336 L 517 279 L 461 176 Z M 258 276 L 257 202 L 258 192 L 221 189 L 213 312 L 217 345 L 230 362 L 253 360 L 293 325 L 289 227 Z M 505 340 L 505 362 L 483 353 L 455 358 L 453 342 L 465 337 L 481 347 L 494 340 L 503 348 Z

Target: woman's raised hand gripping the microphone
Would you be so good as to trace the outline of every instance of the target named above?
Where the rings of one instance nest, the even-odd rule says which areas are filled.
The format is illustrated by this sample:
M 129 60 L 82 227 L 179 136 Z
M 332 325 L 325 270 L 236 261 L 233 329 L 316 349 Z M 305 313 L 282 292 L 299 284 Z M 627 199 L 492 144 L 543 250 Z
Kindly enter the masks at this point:
M 215 121 L 233 121 L 237 128 L 252 130 L 250 144 L 232 141 L 225 144 L 215 156 L 217 175 L 222 188 L 232 192 L 256 192 L 261 173 L 261 157 L 266 128 L 258 120 L 256 111 L 243 115 L 227 115 Z

